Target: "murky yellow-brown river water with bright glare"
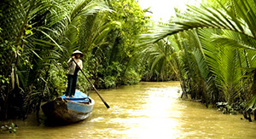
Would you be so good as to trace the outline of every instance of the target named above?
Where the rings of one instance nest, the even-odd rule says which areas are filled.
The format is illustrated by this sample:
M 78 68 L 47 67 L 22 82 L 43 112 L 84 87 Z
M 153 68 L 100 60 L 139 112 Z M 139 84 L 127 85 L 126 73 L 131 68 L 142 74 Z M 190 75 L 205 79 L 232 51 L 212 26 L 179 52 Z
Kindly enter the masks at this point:
M 93 91 L 96 106 L 90 118 L 73 125 L 37 125 L 15 121 L 16 134 L 0 138 L 255 138 L 256 122 L 224 115 L 193 101 L 183 101 L 178 82 L 140 83 L 99 90 L 111 109 Z

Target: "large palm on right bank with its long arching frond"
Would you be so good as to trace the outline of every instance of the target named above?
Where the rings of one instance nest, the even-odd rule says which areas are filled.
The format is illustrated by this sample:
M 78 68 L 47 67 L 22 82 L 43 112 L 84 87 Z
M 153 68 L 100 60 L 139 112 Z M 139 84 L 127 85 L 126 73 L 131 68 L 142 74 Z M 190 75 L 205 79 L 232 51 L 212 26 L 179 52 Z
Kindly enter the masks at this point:
M 244 97 L 251 99 L 251 94 L 256 95 L 253 88 L 253 71 L 255 70 L 253 55 L 256 47 L 254 5 L 254 1 L 230 0 L 217 5 L 204 3 L 201 7 L 189 6 L 185 14 L 178 14 L 168 26 L 159 26 L 158 32 L 143 35 L 142 38 L 146 43 L 154 43 L 177 32 L 200 29 L 202 49 L 194 52 L 192 50 L 192 52 L 196 54 L 198 64 L 200 63 L 197 56 L 199 52 L 207 62 L 209 69 L 207 74 L 210 73 L 211 76 L 205 81 L 208 83 L 212 78 L 217 85 L 222 96 L 218 101 L 230 103 L 237 99 L 246 101 Z M 217 30 L 209 32 L 208 28 Z M 190 71 L 189 65 L 186 68 L 188 68 L 186 71 Z M 203 75 L 202 72 L 201 75 Z M 192 79 L 191 76 L 189 78 Z M 255 107 L 255 102 L 250 101 L 247 107 Z

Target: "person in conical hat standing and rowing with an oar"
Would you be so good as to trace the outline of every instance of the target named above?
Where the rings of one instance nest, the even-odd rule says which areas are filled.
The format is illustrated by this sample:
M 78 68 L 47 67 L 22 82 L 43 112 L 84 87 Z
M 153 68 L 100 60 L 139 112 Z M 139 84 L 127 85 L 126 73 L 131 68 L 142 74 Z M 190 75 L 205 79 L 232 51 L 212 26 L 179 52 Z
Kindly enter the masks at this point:
M 68 65 L 68 75 L 67 75 L 67 91 L 66 97 L 73 97 L 75 95 L 75 90 L 77 86 L 78 72 L 79 69 L 83 68 L 83 62 L 80 58 L 83 57 L 83 53 L 79 50 L 76 50 L 71 55 L 71 58 L 67 61 Z M 76 65 L 74 61 L 76 61 L 79 67 Z

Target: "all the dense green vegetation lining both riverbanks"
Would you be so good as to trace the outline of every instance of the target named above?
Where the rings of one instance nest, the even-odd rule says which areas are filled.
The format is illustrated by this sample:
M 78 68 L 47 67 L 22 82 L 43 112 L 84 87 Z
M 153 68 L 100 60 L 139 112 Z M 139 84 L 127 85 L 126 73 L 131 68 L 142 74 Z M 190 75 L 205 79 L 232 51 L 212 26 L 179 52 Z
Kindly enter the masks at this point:
M 83 70 L 96 88 L 179 80 L 184 97 L 207 107 L 221 102 L 224 113 L 252 112 L 255 8 L 252 0 L 208 0 L 185 12 L 176 9 L 169 23 L 155 25 L 135 0 L 5 0 L 1 117 L 25 117 L 41 101 L 60 96 L 67 59 L 76 49 L 84 53 Z M 89 89 L 80 75 L 79 90 Z

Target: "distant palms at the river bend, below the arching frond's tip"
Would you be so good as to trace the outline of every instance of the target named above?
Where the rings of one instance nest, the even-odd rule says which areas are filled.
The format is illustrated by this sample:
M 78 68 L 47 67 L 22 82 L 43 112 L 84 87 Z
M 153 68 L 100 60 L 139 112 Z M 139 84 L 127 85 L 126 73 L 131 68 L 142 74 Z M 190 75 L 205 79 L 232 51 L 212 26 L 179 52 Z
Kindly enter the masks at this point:
M 168 39 L 140 47 L 137 50 L 137 55 L 143 58 L 148 69 L 144 73 L 143 79 L 146 81 L 177 79 L 177 69 L 172 63 L 173 51 L 174 48 Z

